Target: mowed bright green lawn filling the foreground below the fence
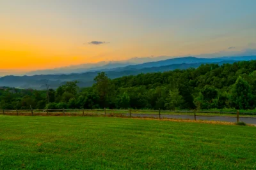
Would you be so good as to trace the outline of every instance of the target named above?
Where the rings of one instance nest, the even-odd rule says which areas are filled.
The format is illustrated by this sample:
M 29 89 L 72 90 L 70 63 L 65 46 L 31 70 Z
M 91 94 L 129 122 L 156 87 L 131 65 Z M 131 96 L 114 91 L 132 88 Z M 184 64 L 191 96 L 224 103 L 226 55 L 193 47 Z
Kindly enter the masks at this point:
M 0 116 L 0 169 L 256 169 L 256 128 Z

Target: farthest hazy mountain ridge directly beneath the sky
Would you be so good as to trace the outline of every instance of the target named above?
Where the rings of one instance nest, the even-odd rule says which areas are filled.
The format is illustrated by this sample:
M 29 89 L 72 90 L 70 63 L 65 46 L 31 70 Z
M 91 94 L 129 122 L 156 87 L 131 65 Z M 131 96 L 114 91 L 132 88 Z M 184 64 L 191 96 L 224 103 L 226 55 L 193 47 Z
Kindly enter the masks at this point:
M 167 66 L 170 64 L 181 63 L 195 63 L 195 62 L 220 62 L 221 60 L 250 60 L 253 56 L 242 57 L 219 57 L 219 58 L 204 58 L 204 57 L 170 57 L 170 56 L 158 56 L 158 57 L 134 57 L 129 60 L 120 61 L 102 61 L 97 63 L 79 64 L 77 66 L 60 67 L 56 69 L 45 69 L 38 71 L 31 71 L 26 75 L 32 76 L 36 74 L 72 74 L 72 73 L 85 73 L 90 71 L 122 71 L 132 68 L 140 69 L 143 67 L 156 67 Z M 185 60 L 185 61 L 184 61 Z M 120 69 L 120 67 L 123 67 Z

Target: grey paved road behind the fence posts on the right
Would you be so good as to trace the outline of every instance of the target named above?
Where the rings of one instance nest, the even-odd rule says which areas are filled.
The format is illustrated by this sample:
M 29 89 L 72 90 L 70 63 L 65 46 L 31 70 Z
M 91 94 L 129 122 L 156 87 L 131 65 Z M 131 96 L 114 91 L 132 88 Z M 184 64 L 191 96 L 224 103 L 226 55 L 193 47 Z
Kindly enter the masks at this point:
M 129 116 L 129 114 L 123 114 L 125 116 Z M 132 117 L 155 117 L 159 118 L 159 115 L 151 115 L 151 114 L 131 114 Z M 193 115 L 161 115 L 161 118 L 176 118 L 176 119 L 189 119 L 195 120 Z M 236 122 L 236 117 L 218 117 L 218 116 L 196 116 L 196 120 L 215 120 L 215 121 L 223 121 L 223 122 Z M 246 124 L 255 124 L 256 125 L 256 117 L 240 117 L 240 122 L 244 122 Z

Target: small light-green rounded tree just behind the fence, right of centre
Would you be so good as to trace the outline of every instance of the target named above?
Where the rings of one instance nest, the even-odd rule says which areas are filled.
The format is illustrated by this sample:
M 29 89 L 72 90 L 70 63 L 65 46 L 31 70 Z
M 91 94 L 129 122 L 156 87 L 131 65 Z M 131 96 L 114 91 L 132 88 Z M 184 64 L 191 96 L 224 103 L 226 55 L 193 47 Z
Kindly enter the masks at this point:
M 169 96 L 166 98 L 166 104 L 164 105 L 166 109 L 175 110 L 175 108 L 180 108 L 182 106 L 184 99 L 179 93 L 179 89 L 169 91 Z

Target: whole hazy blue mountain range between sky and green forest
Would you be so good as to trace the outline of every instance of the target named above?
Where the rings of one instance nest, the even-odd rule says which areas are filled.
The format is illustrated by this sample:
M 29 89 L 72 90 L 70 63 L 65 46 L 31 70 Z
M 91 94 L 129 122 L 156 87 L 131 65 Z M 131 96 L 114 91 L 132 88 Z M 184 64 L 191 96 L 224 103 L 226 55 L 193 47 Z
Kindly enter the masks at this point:
M 159 60 L 154 62 L 145 62 L 142 64 L 127 63 L 111 63 L 102 66 L 91 67 L 82 73 L 71 74 L 40 74 L 33 76 L 4 76 L 0 78 L 0 86 L 16 87 L 22 89 L 45 89 L 45 83 L 49 80 L 52 89 L 56 89 L 67 81 L 79 81 L 79 87 L 90 87 L 93 84 L 93 78 L 97 76 L 99 71 L 105 71 L 109 78 L 118 78 L 121 76 L 135 75 L 140 73 L 153 73 L 170 71 L 174 69 L 188 69 L 190 67 L 199 67 L 201 64 L 214 63 L 225 64 L 234 63 L 241 60 L 255 60 L 256 55 L 240 56 L 240 57 L 220 57 L 220 58 L 196 58 L 196 57 L 180 57 L 167 60 Z M 110 65 L 110 66 L 109 66 Z M 88 65 L 87 65 L 88 66 Z M 51 73 L 51 72 L 50 72 Z M 61 72 L 60 72 L 61 73 Z

